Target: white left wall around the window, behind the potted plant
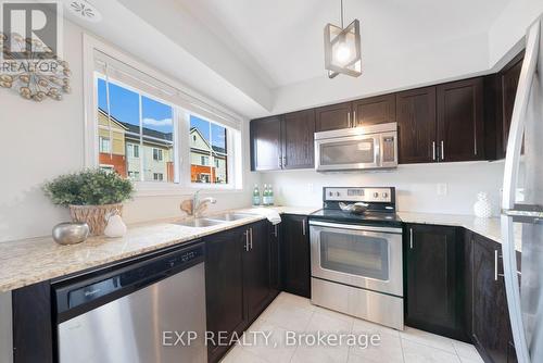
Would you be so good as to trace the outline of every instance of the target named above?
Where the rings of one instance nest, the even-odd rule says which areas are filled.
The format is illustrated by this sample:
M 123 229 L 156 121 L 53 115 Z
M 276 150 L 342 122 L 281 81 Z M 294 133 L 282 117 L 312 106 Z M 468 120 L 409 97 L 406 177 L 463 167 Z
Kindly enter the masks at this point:
M 46 236 L 67 210 L 43 197 L 46 179 L 84 167 L 83 30 L 64 23 L 64 59 L 70 63 L 73 92 L 61 102 L 35 103 L 0 89 L 0 242 Z M 245 138 L 248 125 L 244 124 Z M 248 150 L 248 149 L 247 149 Z M 247 153 L 245 153 L 247 154 Z M 249 158 L 244 158 L 245 171 Z M 245 172 L 242 192 L 216 192 L 213 209 L 247 206 L 257 174 Z M 180 215 L 179 203 L 190 196 L 139 197 L 125 205 L 128 223 Z

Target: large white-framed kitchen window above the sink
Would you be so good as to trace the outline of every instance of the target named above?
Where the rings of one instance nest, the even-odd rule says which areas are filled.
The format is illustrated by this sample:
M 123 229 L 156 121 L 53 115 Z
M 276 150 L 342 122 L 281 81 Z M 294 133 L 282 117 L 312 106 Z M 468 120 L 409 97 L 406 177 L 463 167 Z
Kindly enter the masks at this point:
M 114 48 L 85 38 L 87 63 L 93 64 L 88 166 L 111 165 L 146 195 L 241 188 L 240 118 Z

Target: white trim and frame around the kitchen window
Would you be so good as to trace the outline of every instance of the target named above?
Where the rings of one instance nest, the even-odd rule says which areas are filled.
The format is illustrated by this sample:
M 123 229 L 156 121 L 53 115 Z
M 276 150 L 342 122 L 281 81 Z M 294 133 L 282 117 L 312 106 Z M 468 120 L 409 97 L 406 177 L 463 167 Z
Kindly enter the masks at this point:
M 182 147 L 184 145 L 188 145 L 190 142 L 190 123 L 188 123 L 188 127 L 179 127 L 179 125 L 184 125 L 184 123 L 176 122 L 174 123 L 176 128 L 175 134 L 177 134 L 177 148 L 174 148 L 174 160 L 175 160 L 175 180 L 174 183 L 156 183 L 156 182 L 135 182 L 136 196 L 137 197 L 154 197 L 154 196 L 179 196 L 193 193 L 195 190 L 205 189 L 213 190 L 214 192 L 243 192 L 243 170 L 242 166 L 247 164 L 248 152 L 242 152 L 247 146 L 242 145 L 242 141 L 245 139 L 245 133 L 248 133 L 248 128 L 243 125 L 243 117 L 237 115 L 228 109 L 225 109 L 220 104 L 215 101 L 207 99 L 206 97 L 198 93 L 197 91 L 190 89 L 189 87 L 171 79 L 168 76 L 157 72 L 156 70 L 148 66 L 144 63 L 136 61 L 132 57 L 127 55 L 123 51 L 116 49 L 115 47 L 105 43 L 88 34 L 83 34 L 83 71 L 84 71 L 84 112 L 85 112 L 85 166 L 86 167 L 98 167 L 99 164 L 99 138 L 98 138 L 98 97 L 96 96 L 96 82 L 97 78 L 94 76 L 94 50 L 101 51 L 102 53 L 109 54 L 129 66 L 139 70 L 155 79 L 171 85 L 186 95 L 198 99 L 205 104 L 211 105 L 213 109 L 224 113 L 231 115 L 232 118 L 240 121 L 240 128 L 236 133 L 229 132 L 227 133 L 227 145 L 231 148 L 231 151 L 228 152 L 228 176 L 230 179 L 229 184 L 193 184 L 190 182 L 190 148 Z M 139 93 L 143 93 L 140 90 L 137 90 Z M 150 95 L 151 98 L 156 98 Z M 167 103 L 167 102 L 166 102 Z M 184 115 L 179 115 L 179 109 L 174 109 L 174 118 L 182 117 Z M 198 115 L 197 113 L 194 113 Z M 210 117 L 202 117 L 204 120 L 210 120 Z M 217 124 L 220 124 L 219 121 L 214 121 Z M 231 129 L 228 126 L 225 126 Z M 236 134 L 236 135 L 235 135 Z M 236 139 L 236 142 L 235 142 Z M 140 150 L 141 152 L 141 150 Z M 231 157 L 230 157 L 231 152 Z M 231 159 L 230 159 L 231 158 Z M 141 159 L 141 158 L 140 158 Z M 236 165 L 235 165 L 236 164 Z M 188 174 L 187 174 L 188 173 Z M 141 174 L 141 173 L 140 173 Z M 142 174 L 141 174 L 142 175 Z M 184 178 L 179 180 L 179 176 L 188 175 L 188 178 Z

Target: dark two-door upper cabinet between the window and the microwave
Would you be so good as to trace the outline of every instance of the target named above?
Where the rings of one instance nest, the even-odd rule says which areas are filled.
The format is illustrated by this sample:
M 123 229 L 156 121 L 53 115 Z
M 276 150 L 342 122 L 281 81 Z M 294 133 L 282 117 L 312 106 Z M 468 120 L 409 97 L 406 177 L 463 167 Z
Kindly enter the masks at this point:
M 315 166 L 314 110 L 253 120 L 250 128 L 252 171 Z

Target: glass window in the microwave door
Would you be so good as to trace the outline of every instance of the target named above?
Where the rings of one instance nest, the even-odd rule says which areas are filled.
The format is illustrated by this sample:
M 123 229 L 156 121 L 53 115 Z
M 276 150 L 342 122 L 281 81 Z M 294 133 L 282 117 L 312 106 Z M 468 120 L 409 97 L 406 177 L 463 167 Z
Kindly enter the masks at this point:
M 349 140 L 320 145 L 320 165 L 371 164 L 375 162 L 375 140 Z

